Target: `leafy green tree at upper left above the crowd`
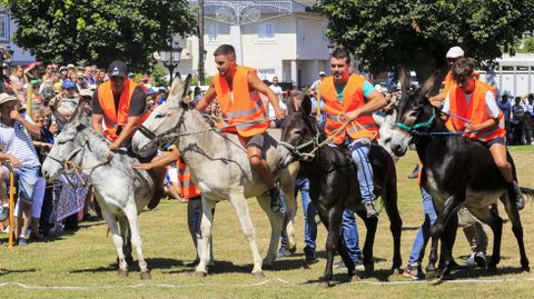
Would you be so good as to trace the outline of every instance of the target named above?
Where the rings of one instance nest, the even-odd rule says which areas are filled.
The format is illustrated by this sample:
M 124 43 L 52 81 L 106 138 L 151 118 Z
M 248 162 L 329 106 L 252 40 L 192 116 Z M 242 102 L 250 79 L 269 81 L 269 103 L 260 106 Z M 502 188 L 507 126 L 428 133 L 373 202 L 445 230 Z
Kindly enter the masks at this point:
M 14 42 L 39 60 L 96 63 L 115 59 L 147 70 L 175 33 L 196 27 L 186 0 L 1 0 L 18 29 Z

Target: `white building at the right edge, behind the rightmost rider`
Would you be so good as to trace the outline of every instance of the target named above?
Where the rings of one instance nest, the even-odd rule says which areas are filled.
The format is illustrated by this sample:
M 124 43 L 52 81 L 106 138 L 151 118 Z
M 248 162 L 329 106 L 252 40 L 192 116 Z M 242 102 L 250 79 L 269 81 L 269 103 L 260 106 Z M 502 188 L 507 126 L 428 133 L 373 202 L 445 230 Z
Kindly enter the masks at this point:
M 496 87 L 501 94 L 534 93 L 534 53 L 503 54 L 493 71 L 479 71 L 481 80 Z

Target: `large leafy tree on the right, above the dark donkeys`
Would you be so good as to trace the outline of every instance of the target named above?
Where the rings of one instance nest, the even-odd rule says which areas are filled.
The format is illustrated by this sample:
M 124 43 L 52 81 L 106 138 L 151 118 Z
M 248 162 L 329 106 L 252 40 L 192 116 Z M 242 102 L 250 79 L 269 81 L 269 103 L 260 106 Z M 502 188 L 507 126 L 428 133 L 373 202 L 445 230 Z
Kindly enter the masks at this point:
M 446 69 L 445 53 L 461 46 L 481 66 L 513 53 L 530 29 L 534 0 L 322 0 L 327 36 L 372 71 L 398 66 L 418 79 Z

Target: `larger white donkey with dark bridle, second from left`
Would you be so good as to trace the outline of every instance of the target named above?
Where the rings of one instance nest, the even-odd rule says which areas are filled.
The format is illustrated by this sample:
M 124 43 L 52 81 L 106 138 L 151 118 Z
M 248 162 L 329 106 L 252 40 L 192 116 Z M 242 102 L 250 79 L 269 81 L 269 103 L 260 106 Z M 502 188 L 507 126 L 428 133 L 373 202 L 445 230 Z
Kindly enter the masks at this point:
M 241 229 L 250 246 L 254 258 L 253 275 L 263 277 L 261 258 L 256 243 L 256 233 L 250 219 L 247 198 L 256 197 L 267 213 L 271 226 L 269 250 L 265 259 L 270 265 L 276 259 L 276 249 L 284 223 L 281 212 L 270 210 L 270 199 L 266 195 L 267 186 L 249 166 L 248 156 L 235 134 L 217 132 L 205 117 L 182 101 L 189 88 L 190 76 L 185 82 L 178 77 L 172 82 L 168 100 L 159 106 L 139 128 L 132 138 L 132 150 L 144 155 L 164 142 L 174 141 L 181 152 L 186 165 L 190 168 L 194 182 L 202 192 L 200 262 L 196 268 L 198 276 L 207 273 L 210 260 L 211 209 L 220 200 L 229 200 L 237 212 Z M 286 195 L 286 207 L 289 221 L 286 226 L 288 248 L 295 248 L 293 218 L 295 216 L 295 179 L 298 163 L 288 169 L 276 168 L 276 139 L 279 130 L 270 132 L 274 138 L 266 138 L 265 157 L 274 170 L 275 178 Z M 274 134 L 277 133 L 275 137 Z

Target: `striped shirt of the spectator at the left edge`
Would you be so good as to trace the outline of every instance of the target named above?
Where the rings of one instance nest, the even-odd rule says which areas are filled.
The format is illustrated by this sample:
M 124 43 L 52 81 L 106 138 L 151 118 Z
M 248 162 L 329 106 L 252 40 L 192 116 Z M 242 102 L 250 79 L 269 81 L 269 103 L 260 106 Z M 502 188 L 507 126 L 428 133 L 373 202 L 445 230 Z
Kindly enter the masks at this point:
M 40 166 L 31 138 L 26 132 L 24 126 L 17 120 L 12 127 L 0 122 L 0 151 L 14 156 L 22 167 Z

